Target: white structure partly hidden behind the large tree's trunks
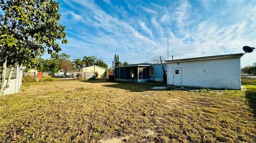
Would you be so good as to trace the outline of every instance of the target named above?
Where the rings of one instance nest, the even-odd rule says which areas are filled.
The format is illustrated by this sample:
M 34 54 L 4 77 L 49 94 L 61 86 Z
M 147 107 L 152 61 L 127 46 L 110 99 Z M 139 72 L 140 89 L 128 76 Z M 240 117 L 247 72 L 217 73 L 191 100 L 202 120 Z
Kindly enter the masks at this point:
M 21 70 L 21 66 L 19 65 L 16 65 L 14 70 L 13 70 L 13 73 L 12 73 L 12 77 L 11 77 L 11 80 L 10 80 L 10 85 L 8 88 L 6 88 L 4 90 L 4 95 L 6 94 L 15 94 L 17 93 L 20 88 L 21 88 L 21 83 L 22 83 L 22 70 Z M 7 68 L 6 70 L 6 80 L 5 80 L 5 85 L 6 85 L 6 82 L 7 82 L 7 77 L 8 77 L 8 74 L 10 72 L 10 68 Z M 1 74 L 0 74 L 1 75 Z

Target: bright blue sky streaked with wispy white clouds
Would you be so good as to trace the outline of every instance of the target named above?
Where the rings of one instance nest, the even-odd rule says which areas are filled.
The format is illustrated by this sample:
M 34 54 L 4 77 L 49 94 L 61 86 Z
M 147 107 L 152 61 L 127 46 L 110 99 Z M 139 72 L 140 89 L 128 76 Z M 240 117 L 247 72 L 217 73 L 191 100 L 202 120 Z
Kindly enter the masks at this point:
M 243 53 L 256 47 L 256 1 L 59 1 L 71 56 L 129 63 Z M 44 55 L 48 58 L 48 55 Z M 75 57 L 74 57 L 75 58 Z M 71 58 L 73 59 L 73 57 Z M 241 66 L 256 62 L 256 51 Z

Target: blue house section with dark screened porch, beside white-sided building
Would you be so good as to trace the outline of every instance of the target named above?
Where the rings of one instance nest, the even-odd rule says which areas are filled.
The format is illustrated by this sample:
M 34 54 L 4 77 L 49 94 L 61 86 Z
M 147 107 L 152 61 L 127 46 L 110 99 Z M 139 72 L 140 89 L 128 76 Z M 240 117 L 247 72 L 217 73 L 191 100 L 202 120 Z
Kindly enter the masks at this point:
M 166 63 L 164 63 L 166 70 Z M 163 81 L 162 64 L 139 63 L 115 67 L 115 81 L 147 82 Z

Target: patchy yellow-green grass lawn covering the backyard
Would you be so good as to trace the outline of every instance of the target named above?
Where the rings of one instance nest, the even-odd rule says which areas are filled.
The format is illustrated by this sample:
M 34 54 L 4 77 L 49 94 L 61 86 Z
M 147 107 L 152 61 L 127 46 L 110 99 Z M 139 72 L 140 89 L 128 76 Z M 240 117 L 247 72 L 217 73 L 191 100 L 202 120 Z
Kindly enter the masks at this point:
M 107 80 L 25 83 L 0 97 L 0 142 L 256 142 L 256 80 L 243 85 L 190 92 Z

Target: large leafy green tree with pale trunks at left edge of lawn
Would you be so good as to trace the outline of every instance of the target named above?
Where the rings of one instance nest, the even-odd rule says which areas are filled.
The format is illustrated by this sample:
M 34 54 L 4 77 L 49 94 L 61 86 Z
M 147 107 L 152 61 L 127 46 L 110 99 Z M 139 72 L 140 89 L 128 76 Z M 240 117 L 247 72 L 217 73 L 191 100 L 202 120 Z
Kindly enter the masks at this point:
M 38 65 L 47 51 L 53 58 L 61 51 L 57 39 L 67 44 L 65 26 L 59 24 L 59 3 L 52 0 L 0 1 L 0 95 L 9 87 L 15 64 Z M 10 66 L 7 83 L 6 68 Z

